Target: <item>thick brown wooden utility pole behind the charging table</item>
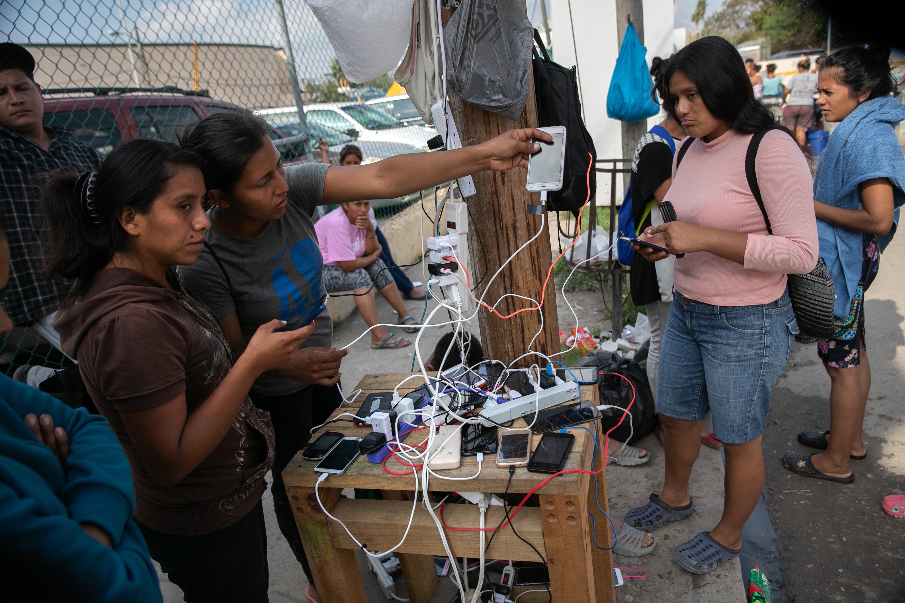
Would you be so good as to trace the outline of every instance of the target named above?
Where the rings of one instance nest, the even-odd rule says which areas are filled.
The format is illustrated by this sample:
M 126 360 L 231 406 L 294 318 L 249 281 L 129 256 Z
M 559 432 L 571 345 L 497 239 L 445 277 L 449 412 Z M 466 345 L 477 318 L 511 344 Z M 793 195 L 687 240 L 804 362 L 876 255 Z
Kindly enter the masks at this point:
M 452 11 L 443 11 L 443 25 L 451 16 Z M 449 92 L 449 100 L 462 146 L 480 145 L 507 130 L 538 125 L 533 74 L 529 76 L 528 102 L 519 121 L 512 121 L 462 102 L 459 95 L 452 91 Z M 481 287 L 475 291 L 476 297 L 481 297 L 487 282 L 503 262 L 541 228 L 542 218 L 526 212 L 529 204 L 540 203 L 540 193 L 529 193 L 525 188 L 527 176 L 528 172 L 523 168 L 509 172 L 472 174 L 477 193 L 465 199 L 471 212 L 468 245 L 472 255 L 472 279 L 484 276 Z M 493 306 L 507 293 L 532 297 L 539 302 L 551 261 L 550 236 L 545 218 L 543 231 L 538 238 L 500 272 L 484 297 L 484 302 Z M 506 316 L 525 307 L 537 306 L 527 299 L 506 297 L 496 309 Z M 559 352 L 557 298 L 552 275 L 547 283 L 544 306 L 539 312 L 537 309 L 529 310 L 504 320 L 491 314 L 487 308 L 481 308 L 478 321 L 481 327 L 481 345 L 488 358 L 509 363 L 528 353 L 529 345 L 532 350 L 544 354 Z M 534 339 L 535 334 L 538 334 L 537 339 Z M 529 356 L 519 363 L 538 361 L 540 358 L 537 356 Z

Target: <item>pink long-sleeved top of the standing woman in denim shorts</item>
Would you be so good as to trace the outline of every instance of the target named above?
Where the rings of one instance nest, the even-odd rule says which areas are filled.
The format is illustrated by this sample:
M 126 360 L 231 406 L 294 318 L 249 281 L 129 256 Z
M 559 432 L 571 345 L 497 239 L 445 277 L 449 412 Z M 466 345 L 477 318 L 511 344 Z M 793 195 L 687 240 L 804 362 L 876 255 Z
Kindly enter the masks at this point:
M 744 266 L 707 251 L 675 261 L 676 290 L 713 306 L 768 304 L 782 296 L 786 274 L 807 273 L 817 264 L 814 193 L 805 155 L 778 130 L 767 132 L 760 142 L 755 170 L 773 228 L 770 236 L 745 177 L 750 140 L 750 134 L 735 130 L 710 143 L 699 138 L 682 158 L 678 174 L 675 160 L 672 164 L 665 201 L 672 202 L 679 221 L 748 233 Z

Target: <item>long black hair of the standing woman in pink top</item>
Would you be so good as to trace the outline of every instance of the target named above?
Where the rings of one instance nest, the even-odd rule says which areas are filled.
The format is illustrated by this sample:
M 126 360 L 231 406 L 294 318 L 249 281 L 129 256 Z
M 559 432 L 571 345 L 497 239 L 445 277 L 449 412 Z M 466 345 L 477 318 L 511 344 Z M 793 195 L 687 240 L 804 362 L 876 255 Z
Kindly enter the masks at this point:
M 770 109 L 754 98 L 745 62 L 725 39 L 716 35 L 700 38 L 666 62 L 663 107 L 681 124 L 670 93 L 670 80 L 679 71 L 695 83 L 713 117 L 727 122 L 736 132 L 753 134 L 776 124 Z

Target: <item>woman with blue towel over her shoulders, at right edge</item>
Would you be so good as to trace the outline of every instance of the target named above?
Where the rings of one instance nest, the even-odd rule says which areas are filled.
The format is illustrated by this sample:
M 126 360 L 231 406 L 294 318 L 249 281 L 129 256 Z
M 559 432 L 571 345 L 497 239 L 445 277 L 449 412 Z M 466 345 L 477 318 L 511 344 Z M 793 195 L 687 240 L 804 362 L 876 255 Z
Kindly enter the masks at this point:
M 848 484 L 849 459 L 867 456 L 862 424 L 871 366 L 864 341 L 864 293 L 877 276 L 905 203 L 905 157 L 895 135 L 905 105 L 893 99 L 889 48 L 847 48 L 826 58 L 818 90 L 827 121 L 835 128 L 814 180 L 814 213 L 820 256 L 836 288 L 835 334 L 817 343 L 830 375 L 830 428 L 805 431 L 798 441 L 824 449 L 787 454 L 783 465 L 800 476 Z

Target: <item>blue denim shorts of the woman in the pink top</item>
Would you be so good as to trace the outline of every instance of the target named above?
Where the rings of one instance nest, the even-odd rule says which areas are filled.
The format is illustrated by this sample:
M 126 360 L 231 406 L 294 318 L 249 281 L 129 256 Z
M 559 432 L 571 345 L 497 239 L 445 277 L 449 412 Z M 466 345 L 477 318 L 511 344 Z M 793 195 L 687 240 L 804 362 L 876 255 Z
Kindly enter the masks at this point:
M 710 405 L 720 440 L 757 438 L 797 333 L 788 292 L 763 306 L 710 306 L 676 291 L 660 351 L 657 412 L 703 419 Z

